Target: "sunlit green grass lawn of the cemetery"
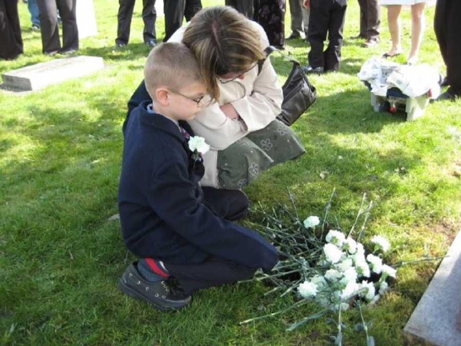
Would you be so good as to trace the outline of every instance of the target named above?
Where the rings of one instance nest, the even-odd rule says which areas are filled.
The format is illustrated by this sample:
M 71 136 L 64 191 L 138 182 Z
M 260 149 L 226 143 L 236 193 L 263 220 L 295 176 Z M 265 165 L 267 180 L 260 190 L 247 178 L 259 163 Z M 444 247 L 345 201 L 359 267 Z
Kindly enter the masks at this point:
M 18 6 L 25 54 L 1 61 L 0 73 L 51 59 L 41 54 L 40 33 L 30 30 L 27 6 Z M 117 213 L 121 124 L 149 49 L 142 43 L 140 1 L 124 50 L 113 50 L 118 3 L 97 0 L 95 8 L 99 34 L 81 40 L 80 54 L 102 56 L 106 69 L 33 93 L 0 91 L 0 344 L 328 344 L 336 327 L 325 318 L 285 332 L 291 322 L 318 311 L 315 304 L 240 326 L 293 301 L 263 297 L 262 284 L 201 291 L 177 313 L 160 313 L 118 290 L 118 278 L 134 257 L 123 245 L 119 222 L 108 218 Z M 444 73 L 432 28 L 434 8 L 426 14 L 420 61 Z M 245 192 L 250 202 L 269 208 L 275 200 L 288 201 L 283 191 L 289 188 L 307 217 L 322 216 L 336 188 L 331 213 L 343 229 L 352 225 L 367 193 L 374 208 L 366 238 L 388 237 L 392 251 L 386 261 L 395 263 L 444 255 L 460 228 L 461 101 L 431 104 L 412 123 L 403 114 L 373 111 L 356 74 L 367 58 L 390 47 L 385 17 L 386 10 L 381 44 L 361 48 L 361 40 L 348 39 L 359 28 L 359 7 L 349 2 L 340 71 L 311 77 L 319 98 L 294 125 L 306 154 L 265 172 Z M 160 39 L 163 24 L 159 18 Z M 408 10 L 403 24 L 408 53 Z M 306 63 L 304 41 L 289 42 L 287 49 Z M 273 62 L 283 82 L 289 63 L 277 54 Z M 399 269 L 391 290 L 365 310 L 377 345 L 405 342 L 402 329 L 437 264 Z M 345 313 L 349 327 L 359 319 L 358 312 Z M 353 328 L 344 340 L 365 344 L 364 334 Z

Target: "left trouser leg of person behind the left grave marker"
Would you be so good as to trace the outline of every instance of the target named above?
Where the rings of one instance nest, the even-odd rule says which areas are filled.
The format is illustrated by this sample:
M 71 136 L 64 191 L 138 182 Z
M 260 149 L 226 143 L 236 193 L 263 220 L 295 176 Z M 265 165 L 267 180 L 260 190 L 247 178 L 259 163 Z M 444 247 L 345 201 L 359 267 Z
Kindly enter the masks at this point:
M 57 23 L 56 0 L 37 0 L 40 12 L 41 46 L 44 53 L 61 49 Z

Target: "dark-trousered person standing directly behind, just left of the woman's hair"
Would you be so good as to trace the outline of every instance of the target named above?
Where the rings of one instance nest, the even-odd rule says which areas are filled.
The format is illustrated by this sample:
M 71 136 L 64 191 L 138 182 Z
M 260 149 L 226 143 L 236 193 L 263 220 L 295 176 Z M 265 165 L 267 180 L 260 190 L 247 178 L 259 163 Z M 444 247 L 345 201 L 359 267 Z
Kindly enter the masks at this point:
M 202 9 L 200 0 L 163 0 L 165 13 L 165 38 L 166 42 L 182 25 L 182 18 L 190 22 L 192 17 Z

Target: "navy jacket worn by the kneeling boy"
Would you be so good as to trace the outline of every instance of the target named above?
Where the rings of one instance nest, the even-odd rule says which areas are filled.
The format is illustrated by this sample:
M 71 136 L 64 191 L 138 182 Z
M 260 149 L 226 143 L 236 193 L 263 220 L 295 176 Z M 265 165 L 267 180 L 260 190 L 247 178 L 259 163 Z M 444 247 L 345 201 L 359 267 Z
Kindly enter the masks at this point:
M 270 271 L 278 260 L 274 246 L 201 202 L 203 164 L 194 164 L 173 121 L 148 113 L 150 103 L 133 109 L 123 131 L 118 205 L 128 249 L 172 264 L 200 263 L 212 255 Z

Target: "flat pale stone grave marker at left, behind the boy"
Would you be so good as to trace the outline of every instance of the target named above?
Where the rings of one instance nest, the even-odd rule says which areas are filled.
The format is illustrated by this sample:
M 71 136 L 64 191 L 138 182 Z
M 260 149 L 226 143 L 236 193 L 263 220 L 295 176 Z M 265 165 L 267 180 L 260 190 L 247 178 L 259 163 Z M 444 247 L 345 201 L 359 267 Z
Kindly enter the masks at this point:
M 99 56 L 58 58 L 3 73 L 2 87 L 11 91 L 38 90 L 103 68 L 104 60 Z

